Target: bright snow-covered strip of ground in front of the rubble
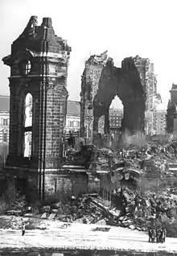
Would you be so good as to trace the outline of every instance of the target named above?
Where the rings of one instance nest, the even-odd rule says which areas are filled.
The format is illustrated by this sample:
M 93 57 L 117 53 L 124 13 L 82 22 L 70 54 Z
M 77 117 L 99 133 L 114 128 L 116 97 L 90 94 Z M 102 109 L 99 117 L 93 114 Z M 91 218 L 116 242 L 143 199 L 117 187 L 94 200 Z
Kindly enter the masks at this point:
M 121 227 L 106 225 L 110 227 L 109 232 L 102 232 L 93 229 L 103 225 L 72 224 L 62 229 L 63 222 L 45 222 L 47 230 L 27 230 L 24 237 L 21 229 L 0 229 L 0 250 L 40 248 L 177 252 L 177 238 L 167 238 L 167 242 L 157 244 L 149 243 L 146 233 Z

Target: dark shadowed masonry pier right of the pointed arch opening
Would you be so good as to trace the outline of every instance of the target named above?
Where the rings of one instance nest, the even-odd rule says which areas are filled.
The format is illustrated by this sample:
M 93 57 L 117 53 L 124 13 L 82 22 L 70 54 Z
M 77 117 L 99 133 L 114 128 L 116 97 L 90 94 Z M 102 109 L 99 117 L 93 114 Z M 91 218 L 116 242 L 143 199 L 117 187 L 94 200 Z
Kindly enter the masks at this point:
M 139 59 L 138 56 L 129 57 L 121 62 L 120 81 L 117 86 L 117 95 L 124 105 L 121 128 L 131 134 L 144 130 L 146 109 L 146 92 L 143 85 L 145 67 L 140 59 L 140 72 L 136 66 L 137 59 Z

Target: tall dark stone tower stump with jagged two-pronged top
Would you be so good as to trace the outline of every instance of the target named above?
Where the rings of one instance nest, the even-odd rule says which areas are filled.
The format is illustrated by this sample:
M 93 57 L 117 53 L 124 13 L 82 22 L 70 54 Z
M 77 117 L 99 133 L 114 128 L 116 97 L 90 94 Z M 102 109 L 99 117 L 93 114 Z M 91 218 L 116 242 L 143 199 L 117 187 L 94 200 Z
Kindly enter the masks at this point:
M 18 167 L 18 171 L 15 170 L 17 176 L 21 175 L 19 170 L 22 175 L 29 170 L 33 171 L 33 179 L 38 184 L 36 189 L 40 195 L 44 184 L 44 170 L 60 168 L 63 157 L 62 136 L 67 113 L 66 85 L 70 52 L 71 47 L 66 40 L 55 35 L 51 18 L 43 18 L 41 25 L 37 26 L 37 17 L 32 16 L 22 35 L 12 43 L 10 56 L 2 59 L 4 64 L 10 66 L 7 171 L 12 171 L 10 167 Z M 29 63 L 30 66 L 27 66 Z M 24 157 L 24 109 L 27 93 L 32 96 L 33 121 L 32 127 L 27 127 L 32 133 L 32 150 L 29 157 Z M 28 179 L 29 173 L 26 176 Z

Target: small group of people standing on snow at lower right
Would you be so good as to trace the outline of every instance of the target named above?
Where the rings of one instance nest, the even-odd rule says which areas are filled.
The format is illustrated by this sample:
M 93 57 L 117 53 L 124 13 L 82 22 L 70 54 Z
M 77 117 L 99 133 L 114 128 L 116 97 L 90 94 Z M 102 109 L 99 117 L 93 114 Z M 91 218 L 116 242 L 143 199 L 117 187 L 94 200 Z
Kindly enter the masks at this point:
M 149 229 L 149 242 L 165 242 L 167 230 L 165 228 Z

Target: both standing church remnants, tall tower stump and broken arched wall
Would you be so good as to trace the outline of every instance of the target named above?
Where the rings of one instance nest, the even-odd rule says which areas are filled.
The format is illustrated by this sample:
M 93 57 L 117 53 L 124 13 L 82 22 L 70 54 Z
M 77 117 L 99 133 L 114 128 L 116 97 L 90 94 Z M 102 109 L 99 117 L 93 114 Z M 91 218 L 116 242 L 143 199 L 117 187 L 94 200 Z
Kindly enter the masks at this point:
M 71 51 L 66 40 L 55 35 L 50 18 L 43 18 L 39 26 L 37 17 L 32 16 L 12 43 L 10 56 L 2 59 L 10 66 L 10 143 L 5 174 L 26 180 L 39 196 L 61 188 L 71 190 L 74 183 L 86 189 L 89 180 L 85 170 L 73 178 L 71 170 L 62 171 Z M 107 52 L 91 56 L 81 81 L 80 136 L 88 129 L 88 137 L 93 139 L 101 117 L 105 118 L 105 134 L 109 133 L 109 106 L 115 96 L 124 105 L 122 130 L 131 134 L 153 130 L 156 84 L 149 59 L 126 58 L 117 68 Z

